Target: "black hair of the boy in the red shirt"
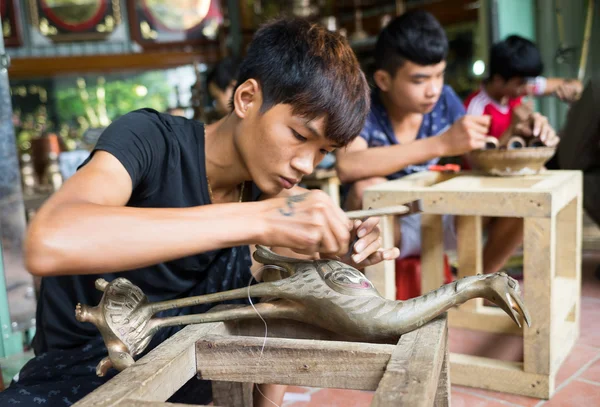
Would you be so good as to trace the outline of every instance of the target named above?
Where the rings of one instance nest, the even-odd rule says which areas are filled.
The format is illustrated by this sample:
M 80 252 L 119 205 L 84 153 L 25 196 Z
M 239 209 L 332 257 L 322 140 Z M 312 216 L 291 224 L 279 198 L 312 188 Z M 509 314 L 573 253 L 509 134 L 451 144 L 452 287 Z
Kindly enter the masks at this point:
M 504 80 L 532 78 L 542 74 L 544 64 L 537 46 L 530 40 L 511 35 L 490 50 L 489 78 L 500 75 Z

